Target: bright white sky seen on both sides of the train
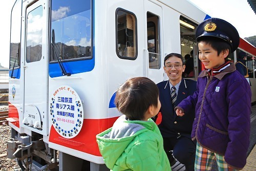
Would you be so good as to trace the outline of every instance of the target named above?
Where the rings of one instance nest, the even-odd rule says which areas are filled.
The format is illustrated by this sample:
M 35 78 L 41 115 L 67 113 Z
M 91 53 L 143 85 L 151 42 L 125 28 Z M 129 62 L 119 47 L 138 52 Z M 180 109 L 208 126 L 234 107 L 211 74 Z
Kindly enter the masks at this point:
M 211 17 L 221 18 L 237 28 L 240 37 L 256 35 L 256 14 L 251 9 L 247 0 L 188 0 L 201 8 Z M 15 0 L 8 0 L 5 5 L 0 6 L 2 26 L 1 56 L 0 63 L 3 67 L 9 68 L 10 48 L 10 19 L 11 9 Z

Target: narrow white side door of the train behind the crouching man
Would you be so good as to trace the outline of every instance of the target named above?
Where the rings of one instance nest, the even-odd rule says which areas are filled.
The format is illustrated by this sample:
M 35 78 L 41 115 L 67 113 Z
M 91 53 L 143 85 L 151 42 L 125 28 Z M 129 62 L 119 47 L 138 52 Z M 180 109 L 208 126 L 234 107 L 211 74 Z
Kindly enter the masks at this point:
M 162 33 L 162 8 L 150 1 L 144 1 L 144 3 L 146 56 L 148 56 L 148 59 L 145 60 L 145 73 L 148 78 L 158 83 L 164 79 L 160 36 Z

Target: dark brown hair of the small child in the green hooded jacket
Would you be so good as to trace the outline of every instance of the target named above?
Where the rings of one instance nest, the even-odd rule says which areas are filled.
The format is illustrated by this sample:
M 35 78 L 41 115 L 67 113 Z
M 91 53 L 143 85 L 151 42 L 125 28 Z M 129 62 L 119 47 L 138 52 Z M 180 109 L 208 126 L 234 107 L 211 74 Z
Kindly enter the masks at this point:
M 118 111 L 130 120 L 142 120 L 150 105 L 157 107 L 159 90 L 146 77 L 126 80 L 117 90 L 115 104 Z

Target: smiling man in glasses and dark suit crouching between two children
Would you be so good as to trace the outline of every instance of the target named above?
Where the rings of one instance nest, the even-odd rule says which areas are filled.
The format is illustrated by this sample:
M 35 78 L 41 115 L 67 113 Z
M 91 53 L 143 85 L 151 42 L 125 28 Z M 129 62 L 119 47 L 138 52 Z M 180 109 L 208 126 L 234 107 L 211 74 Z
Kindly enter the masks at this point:
M 174 111 L 176 105 L 196 91 L 196 81 L 182 78 L 184 70 L 182 55 L 170 53 L 165 56 L 164 71 L 169 80 L 157 84 L 161 109 L 153 120 L 157 124 L 160 122 L 158 126 L 170 165 L 176 163 L 175 157 L 185 165 L 186 170 L 194 170 L 196 142 L 191 140 L 190 135 L 195 111 L 183 117 L 178 117 Z M 160 116 L 162 116 L 161 121 L 159 121 Z

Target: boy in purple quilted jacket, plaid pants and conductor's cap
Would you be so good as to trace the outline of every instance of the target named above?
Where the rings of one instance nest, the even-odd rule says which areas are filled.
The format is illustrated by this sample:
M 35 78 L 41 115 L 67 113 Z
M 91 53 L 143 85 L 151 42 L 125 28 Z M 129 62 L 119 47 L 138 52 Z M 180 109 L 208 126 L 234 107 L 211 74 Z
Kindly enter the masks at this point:
M 249 147 L 251 90 L 227 60 L 238 48 L 238 31 L 225 20 L 209 18 L 199 24 L 196 39 L 205 69 L 194 95 L 175 108 L 183 116 L 196 104 L 191 133 L 197 139 L 195 170 L 210 170 L 216 159 L 219 170 L 242 169 Z

